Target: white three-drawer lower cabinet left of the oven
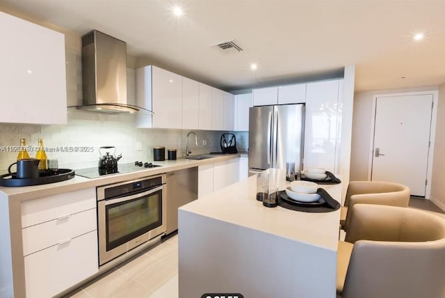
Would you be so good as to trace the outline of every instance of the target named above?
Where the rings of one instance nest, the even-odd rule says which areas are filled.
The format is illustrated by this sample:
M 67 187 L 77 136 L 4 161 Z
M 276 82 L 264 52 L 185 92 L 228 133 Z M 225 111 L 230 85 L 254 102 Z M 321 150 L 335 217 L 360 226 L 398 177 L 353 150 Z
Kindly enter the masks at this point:
M 54 297 L 96 274 L 95 188 L 22 203 L 26 297 Z

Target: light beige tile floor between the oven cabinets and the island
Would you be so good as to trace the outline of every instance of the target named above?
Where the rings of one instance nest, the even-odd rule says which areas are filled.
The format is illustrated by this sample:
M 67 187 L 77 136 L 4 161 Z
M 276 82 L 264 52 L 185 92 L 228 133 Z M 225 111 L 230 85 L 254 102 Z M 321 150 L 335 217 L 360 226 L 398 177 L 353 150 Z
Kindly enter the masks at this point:
M 124 262 L 65 297 L 177 298 L 178 236 Z

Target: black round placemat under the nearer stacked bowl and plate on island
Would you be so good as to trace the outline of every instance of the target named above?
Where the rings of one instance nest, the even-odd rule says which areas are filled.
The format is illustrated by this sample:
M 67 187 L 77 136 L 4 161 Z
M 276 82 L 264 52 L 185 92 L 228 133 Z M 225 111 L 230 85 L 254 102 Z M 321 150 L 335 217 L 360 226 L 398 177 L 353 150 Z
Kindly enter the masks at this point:
M 321 196 L 321 200 L 325 201 L 323 204 L 309 205 L 302 204 L 300 202 L 292 202 L 292 199 L 286 195 L 286 191 L 284 190 L 278 191 L 277 201 L 278 205 L 283 208 L 302 212 L 323 213 L 339 209 L 340 203 L 335 201 L 334 198 L 332 198 L 332 196 L 325 191 L 325 189 L 318 188 L 317 194 Z

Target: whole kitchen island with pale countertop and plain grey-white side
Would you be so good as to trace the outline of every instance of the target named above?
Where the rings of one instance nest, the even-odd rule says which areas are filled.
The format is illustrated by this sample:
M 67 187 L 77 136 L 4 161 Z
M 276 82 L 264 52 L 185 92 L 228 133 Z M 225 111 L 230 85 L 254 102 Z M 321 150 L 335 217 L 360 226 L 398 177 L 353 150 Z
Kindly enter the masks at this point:
M 341 201 L 341 184 L 320 187 Z M 252 176 L 179 208 L 181 298 L 335 297 L 340 210 L 268 208 L 255 194 Z

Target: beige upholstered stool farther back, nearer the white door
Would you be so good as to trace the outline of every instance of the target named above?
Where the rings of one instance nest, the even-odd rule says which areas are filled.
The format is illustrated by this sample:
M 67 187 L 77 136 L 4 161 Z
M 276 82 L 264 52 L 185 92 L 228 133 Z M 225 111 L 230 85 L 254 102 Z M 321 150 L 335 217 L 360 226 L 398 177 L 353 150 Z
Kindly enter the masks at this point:
M 375 204 L 407 207 L 410 188 L 394 182 L 351 181 L 346 191 L 344 206 L 340 210 L 340 225 L 348 230 L 350 207 L 354 204 Z

